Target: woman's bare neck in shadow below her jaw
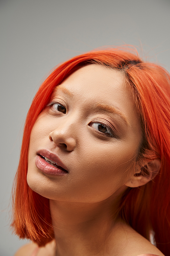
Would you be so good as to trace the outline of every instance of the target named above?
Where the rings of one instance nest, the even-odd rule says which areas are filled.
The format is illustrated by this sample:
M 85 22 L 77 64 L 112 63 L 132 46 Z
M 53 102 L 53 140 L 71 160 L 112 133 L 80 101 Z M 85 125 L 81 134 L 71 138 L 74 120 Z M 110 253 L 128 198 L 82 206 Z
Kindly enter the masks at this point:
M 50 209 L 56 256 L 105 255 L 109 235 L 118 223 L 116 200 L 108 198 L 99 203 L 50 200 Z

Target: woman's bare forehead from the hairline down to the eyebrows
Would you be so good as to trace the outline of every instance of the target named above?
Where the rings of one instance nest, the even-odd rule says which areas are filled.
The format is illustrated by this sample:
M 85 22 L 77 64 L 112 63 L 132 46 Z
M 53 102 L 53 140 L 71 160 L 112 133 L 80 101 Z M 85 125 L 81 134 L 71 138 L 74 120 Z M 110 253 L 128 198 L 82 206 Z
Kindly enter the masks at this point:
M 99 64 L 84 66 L 58 85 L 52 97 L 65 95 L 87 109 L 119 112 L 124 121 L 139 127 L 139 116 L 122 72 Z

